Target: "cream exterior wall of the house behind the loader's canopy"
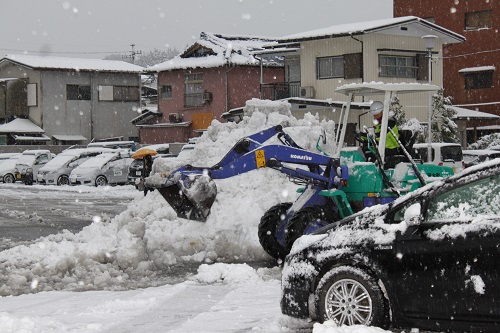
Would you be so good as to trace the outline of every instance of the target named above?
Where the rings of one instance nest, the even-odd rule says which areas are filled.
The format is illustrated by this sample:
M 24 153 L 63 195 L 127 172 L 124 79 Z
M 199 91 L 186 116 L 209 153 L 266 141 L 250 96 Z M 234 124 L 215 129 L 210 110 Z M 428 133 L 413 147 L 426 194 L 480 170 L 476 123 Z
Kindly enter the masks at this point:
M 351 37 L 341 37 L 335 39 L 322 39 L 306 41 L 301 43 L 301 77 L 303 86 L 313 86 L 315 88 L 315 98 L 317 99 L 332 99 L 334 101 L 347 102 L 347 96 L 335 93 L 335 89 L 351 83 L 362 82 L 385 82 L 385 83 L 428 83 L 416 79 L 407 78 L 392 78 L 379 76 L 378 56 L 380 49 L 401 50 L 401 51 L 419 51 L 426 52 L 424 41 L 420 37 L 400 37 L 394 35 L 368 34 L 356 36 L 355 40 Z M 441 55 L 441 48 L 436 47 L 435 51 L 439 51 L 436 55 Z M 363 52 L 363 78 L 359 79 L 322 79 L 316 77 L 316 58 L 326 56 L 344 55 L 350 53 Z M 415 55 L 416 53 L 407 53 L 391 51 L 391 55 Z M 432 84 L 443 85 L 442 62 L 436 62 L 432 66 Z M 427 123 L 429 97 L 428 93 L 406 94 L 399 96 L 403 105 L 406 117 L 417 118 L 420 122 Z M 368 100 L 384 100 L 384 96 L 370 96 Z M 367 101 L 362 98 L 356 98 L 357 102 Z M 338 121 L 338 113 L 332 113 L 332 118 Z M 371 116 L 364 113 L 352 113 L 349 122 L 361 123 L 361 125 L 371 126 Z

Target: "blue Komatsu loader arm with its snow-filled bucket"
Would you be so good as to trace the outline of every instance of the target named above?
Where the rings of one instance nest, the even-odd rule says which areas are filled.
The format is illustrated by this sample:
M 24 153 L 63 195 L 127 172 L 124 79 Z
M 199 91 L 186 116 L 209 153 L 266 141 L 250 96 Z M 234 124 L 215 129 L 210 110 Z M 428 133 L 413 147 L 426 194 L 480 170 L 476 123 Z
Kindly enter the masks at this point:
M 276 135 L 281 145 L 265 145 Z M 300 148 L 281 126 L 275 126 L 239 140 L 212 167 L 185 165 L 173 171 L 157 188 L 177 216 L 205 221 L 217 195 L 213 179 L 226 179 L 264 167 L 327 190 L 337 188 L 348 177 L 347 168 L 340 167 L 339 159 Z

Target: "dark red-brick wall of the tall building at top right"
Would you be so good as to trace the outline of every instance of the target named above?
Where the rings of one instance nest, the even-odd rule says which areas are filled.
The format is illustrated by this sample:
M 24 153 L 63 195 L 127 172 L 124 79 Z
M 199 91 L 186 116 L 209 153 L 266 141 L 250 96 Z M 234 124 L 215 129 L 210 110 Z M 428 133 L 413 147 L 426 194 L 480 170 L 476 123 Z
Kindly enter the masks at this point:
M 465 14 L 492 10 L 493 27 L 467 31 Z M 444 87 L 445 95 L 453 97 L 453 103 L 468 105 L 467 108 L 500 115 L 500 3 L 498 1 L 434 1 L 434 0 L 394 0 L 394 16 L 415 15 L 432 18 L 433 21 L 466 38 L 462 44 L 444 48 Z M 465 89 L 464 76 L 460 69 L 496 66 L 493 73 L 492 88 Z M 472 104 L 472 105 L 471 105 Z M 475 104 L 475 105 L 474 105 Z M 485 123 L 482 123 L 485 125 Z

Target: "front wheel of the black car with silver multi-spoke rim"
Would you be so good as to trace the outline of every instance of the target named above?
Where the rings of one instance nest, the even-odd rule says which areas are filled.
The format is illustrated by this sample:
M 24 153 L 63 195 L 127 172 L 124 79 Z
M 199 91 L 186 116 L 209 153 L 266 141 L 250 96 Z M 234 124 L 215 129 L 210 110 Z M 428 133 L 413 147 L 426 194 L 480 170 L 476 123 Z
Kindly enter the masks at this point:
M 316 309 L 321 322 L 337 325 L 385 327 L 388 310 L 377 280 L 363 270 L 335 267 L 326 273 L 316 288 Z

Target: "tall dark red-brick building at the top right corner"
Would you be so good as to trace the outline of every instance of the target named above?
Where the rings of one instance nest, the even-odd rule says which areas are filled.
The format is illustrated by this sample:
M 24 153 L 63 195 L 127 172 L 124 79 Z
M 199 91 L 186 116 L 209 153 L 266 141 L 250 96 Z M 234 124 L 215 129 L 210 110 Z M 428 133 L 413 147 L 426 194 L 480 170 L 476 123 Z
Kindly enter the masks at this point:
M 442 57 L 444 88 L 453 104 L 500 115 L 500 3 L 498 1 L 394 0 L 394 16 L 416 15 L 447 29 L 459 32 L 467 40 L 444 48 Z M 468 122 L 471 128 L 485 125 L 498 131 L 499 122 Z M 481 133 L 471 131 L 469 142 Z M 488 133 L 488 130 L 483 131 Z

